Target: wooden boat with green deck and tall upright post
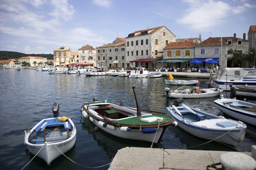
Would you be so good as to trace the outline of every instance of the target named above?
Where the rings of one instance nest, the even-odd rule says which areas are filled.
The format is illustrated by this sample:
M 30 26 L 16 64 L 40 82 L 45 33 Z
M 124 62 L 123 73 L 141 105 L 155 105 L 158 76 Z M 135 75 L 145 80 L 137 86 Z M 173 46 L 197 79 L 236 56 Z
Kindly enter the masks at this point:
M 134 95 L 136 97 L 135 90 Z M 137 108 L 127 108 L 107 101 L 94 101 L 83 104 L 81 113 L 101 130 L 114 136 L 160 143 L 166 128 L 175 125 L 175 121 L 167 114 L 141 112 L 137 97 L 136 104 Z

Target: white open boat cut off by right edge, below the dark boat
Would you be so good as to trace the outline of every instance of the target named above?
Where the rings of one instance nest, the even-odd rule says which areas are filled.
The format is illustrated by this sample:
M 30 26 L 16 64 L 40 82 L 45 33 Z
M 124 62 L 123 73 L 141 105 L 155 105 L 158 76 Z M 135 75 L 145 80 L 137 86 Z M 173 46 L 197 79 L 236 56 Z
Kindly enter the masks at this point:
M 256 125 L 256 104 L 237 99 L 216 99 L 214 104 L 229 116 Z

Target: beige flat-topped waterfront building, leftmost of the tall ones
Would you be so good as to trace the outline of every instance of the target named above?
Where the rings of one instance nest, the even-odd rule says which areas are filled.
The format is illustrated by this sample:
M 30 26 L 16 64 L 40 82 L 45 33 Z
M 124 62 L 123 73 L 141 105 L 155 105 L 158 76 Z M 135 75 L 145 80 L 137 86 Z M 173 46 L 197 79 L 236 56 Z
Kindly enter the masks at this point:
M 54 66 L 67 67 L 70 64 L 71 47 L 59 47 L 54 50 Z

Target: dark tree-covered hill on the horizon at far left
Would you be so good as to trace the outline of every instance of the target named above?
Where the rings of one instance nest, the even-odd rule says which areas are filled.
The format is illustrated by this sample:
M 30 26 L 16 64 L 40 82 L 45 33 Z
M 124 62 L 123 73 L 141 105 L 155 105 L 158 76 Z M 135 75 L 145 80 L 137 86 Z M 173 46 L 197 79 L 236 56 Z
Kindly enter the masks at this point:
M 48 60 L 53 60 L 54 56 L 52 53 L 19 53 L 19 52 L 15 52 L 15 51 L 0 51 L 0 60 L 9 60 L 12 58 L 21 58 L 21 57 L 25 57 L 25 56 L 40 56 L 43 58 L 47 58 Z

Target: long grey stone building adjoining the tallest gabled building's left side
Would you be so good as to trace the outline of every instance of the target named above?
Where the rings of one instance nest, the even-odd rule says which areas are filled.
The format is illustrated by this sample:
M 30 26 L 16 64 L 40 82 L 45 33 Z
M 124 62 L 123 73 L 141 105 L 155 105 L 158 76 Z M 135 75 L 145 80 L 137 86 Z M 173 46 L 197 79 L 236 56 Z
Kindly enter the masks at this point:
M 125 57 L 125 38 L 116 38 L 112 43 L 96 48 L 97 66 L 127 68 L 129 60 Z

